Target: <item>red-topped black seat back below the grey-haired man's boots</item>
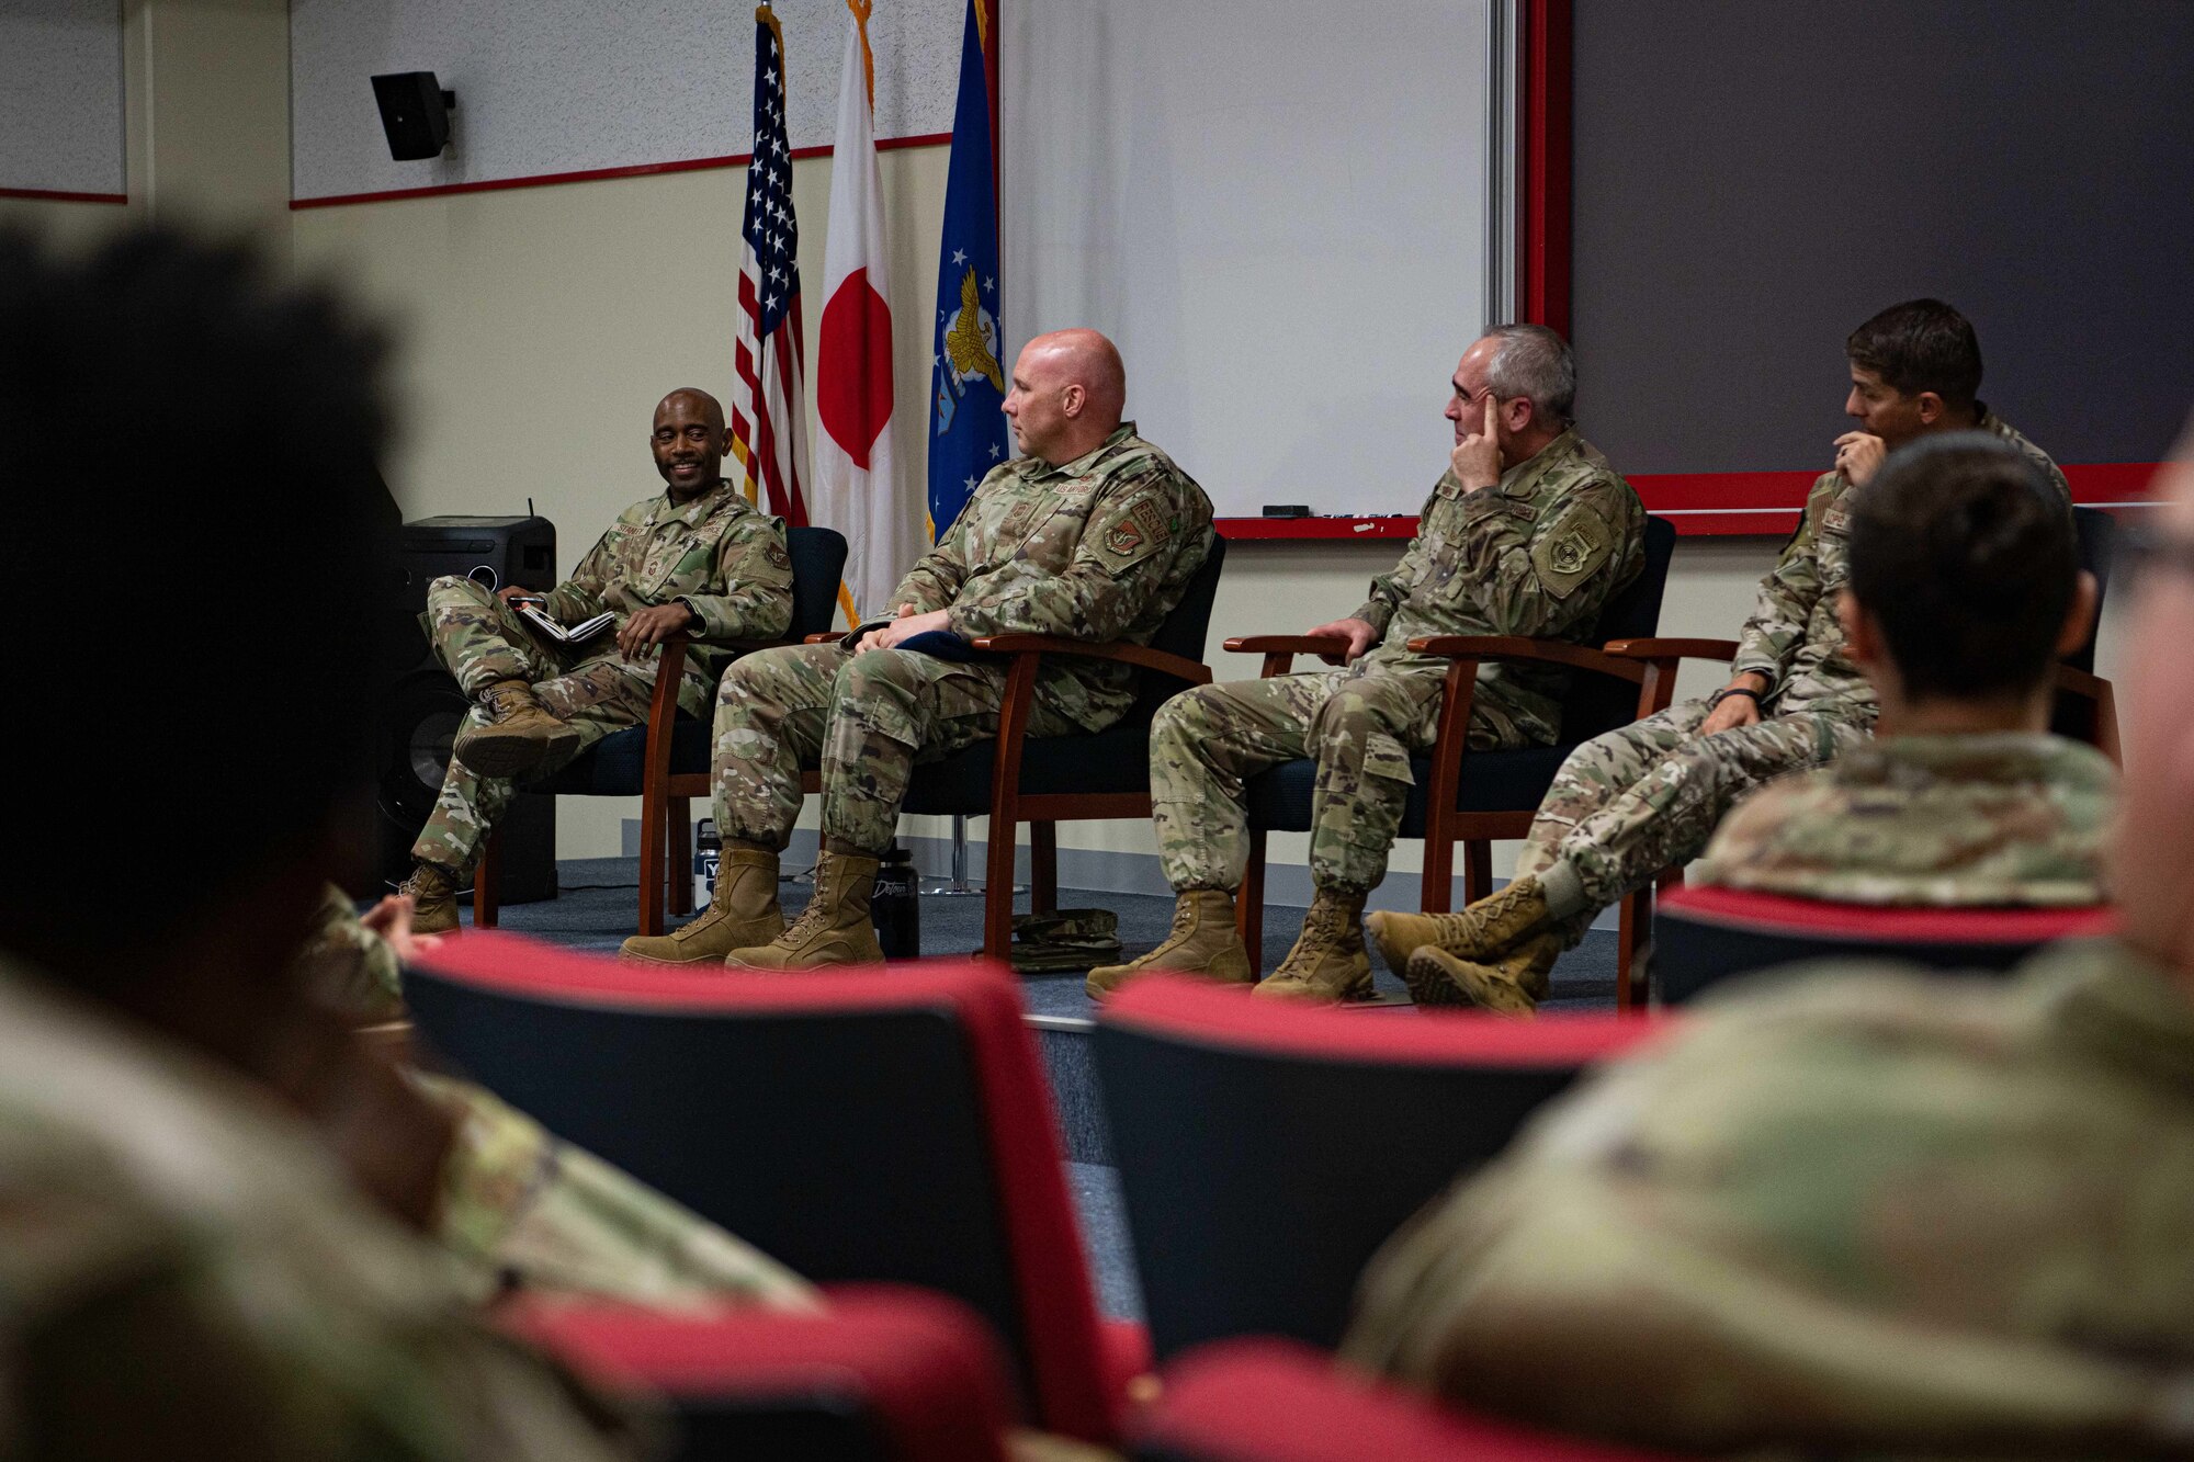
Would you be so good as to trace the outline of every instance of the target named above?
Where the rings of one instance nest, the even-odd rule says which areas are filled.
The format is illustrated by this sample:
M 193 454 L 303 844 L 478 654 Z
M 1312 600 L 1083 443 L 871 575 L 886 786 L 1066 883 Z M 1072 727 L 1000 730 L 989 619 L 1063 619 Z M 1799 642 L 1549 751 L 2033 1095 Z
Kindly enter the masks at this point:
M 1356 1278 L 1593 1060 L 1656 1025 L 1257 1001 L 1145 975 L 1097 1023 L 1152 1346 L 1334 1346 Z

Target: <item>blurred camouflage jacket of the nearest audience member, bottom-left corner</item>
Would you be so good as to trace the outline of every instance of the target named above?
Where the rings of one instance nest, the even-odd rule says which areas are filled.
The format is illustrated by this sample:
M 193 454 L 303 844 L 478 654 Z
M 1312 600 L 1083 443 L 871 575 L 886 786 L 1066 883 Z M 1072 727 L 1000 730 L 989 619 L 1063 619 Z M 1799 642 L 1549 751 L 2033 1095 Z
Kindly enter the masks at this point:
M 483 1326 L 287 1109 L 0 961 L 0 1455 L 584 1462 L 632 1440 Z

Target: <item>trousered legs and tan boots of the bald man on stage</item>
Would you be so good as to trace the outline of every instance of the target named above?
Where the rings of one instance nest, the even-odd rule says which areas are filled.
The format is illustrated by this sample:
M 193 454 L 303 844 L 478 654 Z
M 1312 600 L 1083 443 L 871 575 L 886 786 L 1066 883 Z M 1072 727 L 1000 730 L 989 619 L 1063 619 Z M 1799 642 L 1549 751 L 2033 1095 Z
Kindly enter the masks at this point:
M 735 661 L 715 702 L 715 900 L 663 937 L 625 940 L 645 964 L 783 970 L 882 964 L 869 896 L 915 762 L 998 733 L 1005 670 L 915 650 L 788 645 Z M 1029 735 L 1079 731 L 1042 685 Z M 777 861 L 801 814 L 801 768 L 823 773 L 823 856 L 807 909 L 777 907 Z

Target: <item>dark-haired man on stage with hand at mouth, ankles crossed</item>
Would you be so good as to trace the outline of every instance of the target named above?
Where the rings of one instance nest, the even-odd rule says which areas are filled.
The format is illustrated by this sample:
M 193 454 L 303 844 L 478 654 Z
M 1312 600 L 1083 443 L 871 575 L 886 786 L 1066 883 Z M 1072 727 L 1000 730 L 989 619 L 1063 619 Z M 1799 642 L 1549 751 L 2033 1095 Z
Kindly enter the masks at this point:
M 1981 430 L 2001 437 L 2071 490 L 2040 448 L 1977 400 L 1981 342 L 1950 305 L 1891 305 L 1845 342 L 1858 430 L 1836 437 L 1836 465 L 1806 498 L 1797 533 L 1738 639 L 1731 681 L 1705 700 L 1608 731 L 1571 753 L 1538 806 L 1514 880 L 1461 913 L 1373 913 L 1395 970 L 1422 946 L 1455 959 L 1420 961 L 1420 1003 L 1472 1003 L 1529 1014 L 1556 957 L 1593 915 L 1663 867 L 1696 858 L 1729 806 L 1771 777 L 1808 771 L 1865 742 L 1874 687 L 1845 650 L 1836 615 L 1850 544 L 1850 494 L 1918 437 Z

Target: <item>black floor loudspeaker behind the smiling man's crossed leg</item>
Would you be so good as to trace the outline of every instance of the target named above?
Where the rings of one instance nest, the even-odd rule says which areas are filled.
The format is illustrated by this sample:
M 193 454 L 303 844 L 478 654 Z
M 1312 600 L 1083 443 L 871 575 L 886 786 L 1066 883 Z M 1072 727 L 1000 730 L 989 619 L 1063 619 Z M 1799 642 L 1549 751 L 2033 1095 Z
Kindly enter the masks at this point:
M 426 586 L 441 575 L 470 575 L 489 588 L 555 584 L 555 525 L 546 518 L 419 518 L 404 525 L 399 553 L 404 606 L 415 619 L 426 610 Z M 450 742 L 470 709 L 417 626 L 412 639 L 417 659 L 382 696 L 373 751 L 380 867 L 391 887 L 412 869 L 410 845 L 434 810 Z M 502 902 L 555 898 L 555 797 L 520 792 L 500 832 Z

